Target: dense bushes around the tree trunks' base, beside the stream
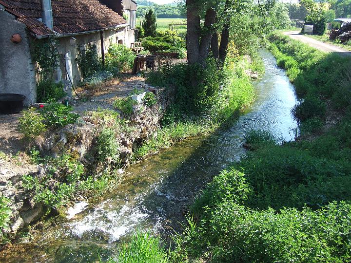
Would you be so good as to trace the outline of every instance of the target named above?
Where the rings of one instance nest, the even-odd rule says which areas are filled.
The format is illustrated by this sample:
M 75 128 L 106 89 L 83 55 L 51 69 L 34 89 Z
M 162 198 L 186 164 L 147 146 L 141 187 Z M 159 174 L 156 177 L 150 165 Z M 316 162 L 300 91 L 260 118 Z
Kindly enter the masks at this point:
M 191 88 L 189 79 L 195 83 Z M 250 79 L 238 61 L 227 60 L 220 71 L 213 60 L 207 62 L 206 69 L 179 64 L 150 73 L 148 80 L 154 85 L 176 87 L 175 108 L 181 114 L 207 115 L 218 122 L 235 115 L 254 99 Z

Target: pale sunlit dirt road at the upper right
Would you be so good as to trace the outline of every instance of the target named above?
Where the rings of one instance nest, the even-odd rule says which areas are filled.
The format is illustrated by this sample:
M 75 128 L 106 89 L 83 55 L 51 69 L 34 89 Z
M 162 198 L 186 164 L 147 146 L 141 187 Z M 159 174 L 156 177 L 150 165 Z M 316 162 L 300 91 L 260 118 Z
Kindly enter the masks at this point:
M 299 35 L 300 31 L 289 31 L 289 32 L 284 32 L 284 35 L 287 35 L 293 39 L 297 39 L 301 42 L 304 42 L 305 44 L 308 44 L 320 51 L 324 51 L 324 52 L 337 52 L 340 53 L 340 55 L 342 56 L 351 56 L 351 52 L 343 49 L 341 47 L 338 46 L 334 46 L 332 44 L 327 44 L 327 43 L 323 43 L 321 41 L 318 41 L 316 39 L 313 38 L 309 38 L 306 37 L 304 35 Z

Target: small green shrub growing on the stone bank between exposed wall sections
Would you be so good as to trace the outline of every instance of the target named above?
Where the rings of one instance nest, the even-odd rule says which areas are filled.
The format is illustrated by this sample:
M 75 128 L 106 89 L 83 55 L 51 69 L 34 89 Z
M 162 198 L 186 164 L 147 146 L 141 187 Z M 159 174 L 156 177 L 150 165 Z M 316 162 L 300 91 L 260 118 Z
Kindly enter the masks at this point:
M 97 139 L 98 161 L 105 163 L 118 161 L 119 145 L 116 140 L 116 133 L 111 128 L 103 128 Z

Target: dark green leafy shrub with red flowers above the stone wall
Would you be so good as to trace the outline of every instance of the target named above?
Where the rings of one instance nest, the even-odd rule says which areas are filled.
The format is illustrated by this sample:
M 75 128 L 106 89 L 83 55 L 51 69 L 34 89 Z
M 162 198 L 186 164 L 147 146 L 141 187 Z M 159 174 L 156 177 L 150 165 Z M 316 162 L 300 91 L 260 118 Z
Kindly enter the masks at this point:
M 62 127 L 77 121 L 79 115 L 72 113 L 72 110 L 72 106 L 66 106 L 57 102 L 45 105 L 40 113 L 48 126 Z

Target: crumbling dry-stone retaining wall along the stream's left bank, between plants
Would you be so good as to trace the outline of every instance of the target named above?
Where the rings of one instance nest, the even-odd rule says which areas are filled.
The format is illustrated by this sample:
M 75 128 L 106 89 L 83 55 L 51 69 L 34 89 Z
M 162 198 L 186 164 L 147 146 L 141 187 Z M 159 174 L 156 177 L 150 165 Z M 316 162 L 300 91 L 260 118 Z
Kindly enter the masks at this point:
M 160 119 L 174 97 L 172 89 L 150 88 L 141 82 L 139 87 L 157 94 L 158 102 L 152 107 L 146 107 L 142 103 L 136 105 L 135 113 L 129 116 L 129 127 L 132 129 L 117 134 L 119 159 L 124 167 L 130 165 L 133 150 L 155 135 Z M 80 161 L 88 167 L 94 164 L 95 159 L 94 155 L 86 153 L 94 150 L 97 136 L 98 127 L 89 116 L 83 116 L 77 124 L 67 125 L 55 133 L 47 133 L 41 142 L 37 140 L 37 143 L 48 155 L 60 155 L 67 151 L 78 154 Z M 43 172 L 44 168 L 41 166 L 14 167 L 8 161 L 0 159 L 0 196 L 10 200 L 9 206 L 12 209 L 10 229 L 5 230 L 9 234 L 13 235 L 24 226 L 38 221 L 46 211 L 46 208 L 41 203 L 35 202 L 33 195 L 22 187 L 23 175 L 36 176 Z

